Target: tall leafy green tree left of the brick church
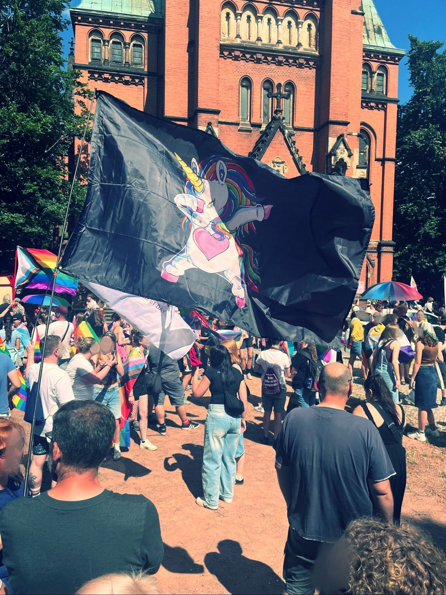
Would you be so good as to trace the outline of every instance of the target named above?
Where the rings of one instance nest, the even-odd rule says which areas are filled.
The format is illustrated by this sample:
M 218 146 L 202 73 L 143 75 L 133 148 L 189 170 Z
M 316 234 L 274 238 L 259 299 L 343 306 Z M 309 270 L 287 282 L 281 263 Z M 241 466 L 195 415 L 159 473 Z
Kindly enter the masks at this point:
M 81 136 L 90 92 L 65 69 L 61 0 L 0 0 L 0 271 L 16 245 L 52 248 L 64 220 L 68 151 Z M 74 115 L 74 99 L 81 115 Z M 76 184 L 74 205 L 84 187 Z

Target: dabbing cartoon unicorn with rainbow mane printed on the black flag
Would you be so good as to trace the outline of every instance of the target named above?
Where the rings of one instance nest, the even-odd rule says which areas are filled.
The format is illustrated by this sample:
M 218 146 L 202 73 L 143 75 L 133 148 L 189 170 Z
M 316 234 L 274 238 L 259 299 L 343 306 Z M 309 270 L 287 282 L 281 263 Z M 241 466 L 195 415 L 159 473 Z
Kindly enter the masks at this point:
M 247 285 L 258 292 L 257 258 L 243 243 L 253 231 L 254 221 L 268 218 L 272 205 L 255 202 L 255 189 L 246 172 L 230 159 L 215 156 L 191 167 L 175 153 L 187 174 L 185 192 L 177 194 L 175 205 L 190 228 L 186 246 L 163 262 L 161 277 L 175 283 L 190 268 L 219 275 L 231 284 L 238 308 L 246 304 Z

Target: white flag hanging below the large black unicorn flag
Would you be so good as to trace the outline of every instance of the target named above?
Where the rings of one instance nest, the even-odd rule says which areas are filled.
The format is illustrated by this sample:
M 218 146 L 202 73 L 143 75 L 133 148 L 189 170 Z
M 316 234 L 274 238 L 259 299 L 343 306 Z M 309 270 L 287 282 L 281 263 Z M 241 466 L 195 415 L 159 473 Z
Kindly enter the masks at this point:
M 118 292 L 96 283 L 83 281 L 83 284 L 170 358 L 182 358 L 193 345 L 193 330 L 184 322 L 174 306 Z

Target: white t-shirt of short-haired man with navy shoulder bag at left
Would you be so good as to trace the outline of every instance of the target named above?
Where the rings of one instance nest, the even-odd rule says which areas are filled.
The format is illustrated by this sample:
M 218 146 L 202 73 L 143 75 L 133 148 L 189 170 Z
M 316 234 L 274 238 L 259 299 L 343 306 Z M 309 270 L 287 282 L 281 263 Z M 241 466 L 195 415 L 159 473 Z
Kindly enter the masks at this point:
M 39 364 L 33 364 L 27 374 L 30 390 L 39 377 Z M 62 405 L 74 400 L 70 377 L 57 364 L 43 362 L 42 381 L 40 383 L 40 397 L 42 398 L 43 415 L 46 419 L 40 436 L 53 429 L 53 415 Z M 51 415 L 50 415 L 51 414 Z

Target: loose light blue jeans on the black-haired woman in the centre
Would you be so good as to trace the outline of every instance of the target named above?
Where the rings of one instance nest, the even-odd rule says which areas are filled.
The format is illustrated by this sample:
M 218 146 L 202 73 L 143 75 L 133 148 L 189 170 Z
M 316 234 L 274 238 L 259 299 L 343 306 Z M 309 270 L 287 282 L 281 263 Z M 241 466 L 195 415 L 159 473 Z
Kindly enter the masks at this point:
M 209 405 L 205 424 L 202 482 L 205 502 L 218 508 L 219 496 L 234 497 L 235 450 L 240 434 L 240 417 L 225 413 L 224 405 Z

